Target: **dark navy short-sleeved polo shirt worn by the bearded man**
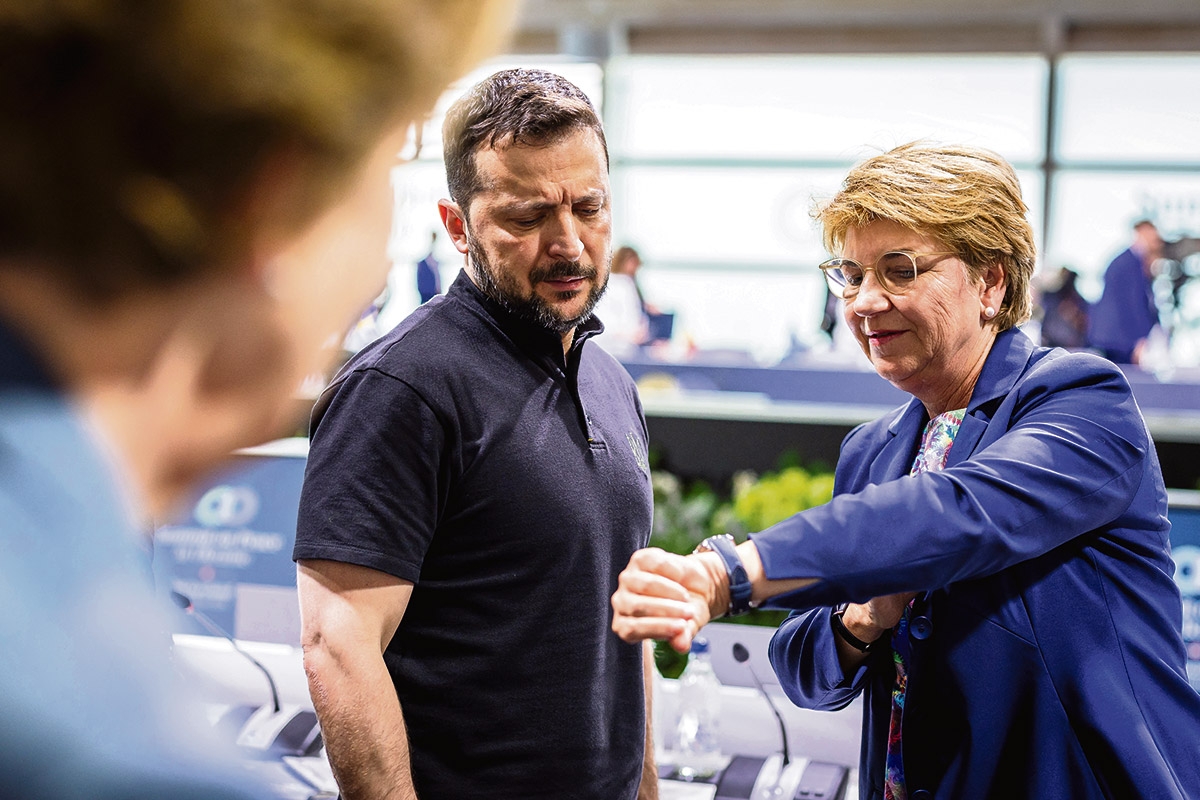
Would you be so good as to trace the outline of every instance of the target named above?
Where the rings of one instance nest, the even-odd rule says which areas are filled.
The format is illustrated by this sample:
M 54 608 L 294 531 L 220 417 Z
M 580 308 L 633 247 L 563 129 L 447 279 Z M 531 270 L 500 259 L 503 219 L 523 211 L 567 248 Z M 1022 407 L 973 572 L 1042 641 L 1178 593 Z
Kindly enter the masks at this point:
M 422 800 L 634 798 L 641 649 L 608 599 L 652 524 L 624 368 L 460 273 L 313 411 L 294 558 L 412 581 L 384 660 Z

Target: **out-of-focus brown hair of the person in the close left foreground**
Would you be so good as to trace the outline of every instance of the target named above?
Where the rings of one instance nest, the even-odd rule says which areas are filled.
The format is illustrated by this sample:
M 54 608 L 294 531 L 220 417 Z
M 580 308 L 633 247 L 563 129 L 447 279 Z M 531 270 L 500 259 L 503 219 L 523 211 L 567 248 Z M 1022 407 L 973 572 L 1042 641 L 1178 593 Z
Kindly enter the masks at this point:
M 92 301 L 298 231 L 511 0 L 0 0 L 0 269 Z M 286 207 L 254 205 L 264 176 Z

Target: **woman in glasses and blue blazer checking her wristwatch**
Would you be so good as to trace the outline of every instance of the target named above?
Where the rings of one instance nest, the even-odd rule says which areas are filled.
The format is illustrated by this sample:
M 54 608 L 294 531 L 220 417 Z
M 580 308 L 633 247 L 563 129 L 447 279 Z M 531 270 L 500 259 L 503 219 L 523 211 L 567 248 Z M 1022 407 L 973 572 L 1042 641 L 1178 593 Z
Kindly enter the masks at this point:
M 1154 446 L 1111 362 L 1018 330 L 1025 215 L 985 150 L 916 143 L 851 170 L 817 215 L 840 253 L 822 269 L 913 399 L 847 435 L 830 503 L 736 548 L 638 552 L 613 628 L 682 650 L 726 612 L 797 609 L 772 663 L 798 705 L 863 696 L 864 800 L 1196 798 Z

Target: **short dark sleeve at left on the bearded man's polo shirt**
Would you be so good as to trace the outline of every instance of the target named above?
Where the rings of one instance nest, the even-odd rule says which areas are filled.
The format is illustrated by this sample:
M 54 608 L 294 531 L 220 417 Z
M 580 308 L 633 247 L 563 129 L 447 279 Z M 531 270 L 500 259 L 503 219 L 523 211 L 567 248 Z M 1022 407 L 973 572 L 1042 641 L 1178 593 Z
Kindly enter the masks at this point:
M 443 425 L 410 385 L 376 369 L 329 391 L 311 435 L 293 559 L 415 583 L 438 522 Z

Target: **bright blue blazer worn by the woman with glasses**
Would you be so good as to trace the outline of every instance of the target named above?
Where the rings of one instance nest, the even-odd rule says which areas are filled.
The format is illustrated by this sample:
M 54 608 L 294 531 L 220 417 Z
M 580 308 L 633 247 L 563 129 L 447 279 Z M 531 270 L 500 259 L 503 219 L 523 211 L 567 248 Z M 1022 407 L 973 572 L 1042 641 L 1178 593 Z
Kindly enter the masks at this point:
M 917 590 L 910 798 L 1200 798 L 1166 492 L 1124 375 L 1006 331 L 946 469 L 911 476 L 926 422 L 913 401 L 856 428 L 834 499 L 752 536 L 769 578 L 820 578 L 773 603 L 812 610 L 772 663 L 798 705 L 864 696 L 859 796 L 883 796 L 894 666 L 844 675 L 828 606 Z

